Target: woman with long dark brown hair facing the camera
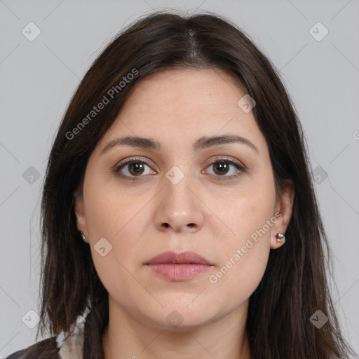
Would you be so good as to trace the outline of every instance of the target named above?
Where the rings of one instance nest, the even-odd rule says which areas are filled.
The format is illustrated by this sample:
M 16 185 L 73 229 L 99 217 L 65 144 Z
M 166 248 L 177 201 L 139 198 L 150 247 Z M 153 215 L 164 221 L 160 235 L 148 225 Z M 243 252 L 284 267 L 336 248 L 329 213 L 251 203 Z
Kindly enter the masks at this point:
M 306 151 L 283 83 L 236 25 L 160 12 L 125 29 L 48 161 L 37 334 L 51 337 L 8 358 L 354 354 Z

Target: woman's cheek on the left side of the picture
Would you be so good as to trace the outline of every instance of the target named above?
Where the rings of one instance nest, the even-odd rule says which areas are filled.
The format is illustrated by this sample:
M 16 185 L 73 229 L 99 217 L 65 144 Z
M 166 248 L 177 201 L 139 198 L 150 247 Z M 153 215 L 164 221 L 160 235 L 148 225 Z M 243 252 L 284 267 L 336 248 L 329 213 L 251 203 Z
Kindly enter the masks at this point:
M 136 201 L 128 191 L 120 191 L 95 175 L 84 187 L 84 196 L 91 254 L 101 282 L 110 294 L 121 293 L 128 283 L 134 289 L 136 281 L 129 271 L 133 271 L 131 265 L 141 250 L 139 239 L 146 213 L 141 208 L 150 197 L 144 194 Z

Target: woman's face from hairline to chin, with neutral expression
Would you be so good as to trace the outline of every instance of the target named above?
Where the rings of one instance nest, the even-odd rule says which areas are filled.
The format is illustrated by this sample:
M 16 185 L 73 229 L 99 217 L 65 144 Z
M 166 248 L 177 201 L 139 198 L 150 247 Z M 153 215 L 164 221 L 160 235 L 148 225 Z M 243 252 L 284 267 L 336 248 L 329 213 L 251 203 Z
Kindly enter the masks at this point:
M 89 158 L 77 226 L 110 302 L 141 323 L 181 329 L 246 313 L 270 248 L 282 245 L 293 192 L 276 202 L 269 149 L 243 95 L 222 70 L 154 74 Z M 167 251 L 208 263 L 148 264 Z

